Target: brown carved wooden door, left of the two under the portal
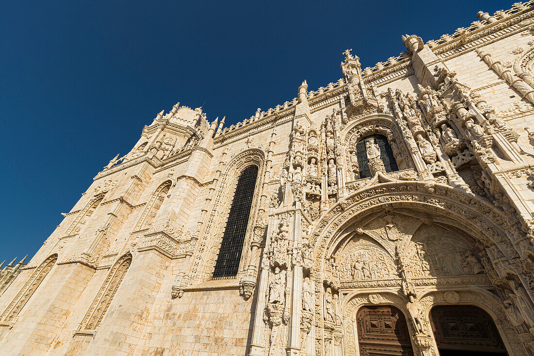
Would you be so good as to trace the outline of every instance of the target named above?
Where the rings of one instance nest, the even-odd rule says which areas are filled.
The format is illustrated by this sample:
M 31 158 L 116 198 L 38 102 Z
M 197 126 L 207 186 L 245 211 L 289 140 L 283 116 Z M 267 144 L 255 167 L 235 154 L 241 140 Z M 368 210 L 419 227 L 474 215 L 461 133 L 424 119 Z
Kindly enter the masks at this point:
M 360 356 L 413 356 L 406 319 L 399 309 L 367 306 L 358 311 Z

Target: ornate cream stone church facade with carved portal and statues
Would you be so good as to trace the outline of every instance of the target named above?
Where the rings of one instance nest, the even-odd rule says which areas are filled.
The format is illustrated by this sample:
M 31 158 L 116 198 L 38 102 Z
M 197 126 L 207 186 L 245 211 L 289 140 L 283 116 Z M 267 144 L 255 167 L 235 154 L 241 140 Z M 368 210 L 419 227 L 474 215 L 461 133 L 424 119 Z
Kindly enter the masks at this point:
M 402 36 L 373 68 L 347 50 L 339 81 L 230 127 L 160 112 L 17 265 L 2 354 L 363 355 L 376 328 L 390 354 L 437 355 L 461 324 L 533 355 L 532 4 Z M 237 274 L 213 278 L 250 166 Z

